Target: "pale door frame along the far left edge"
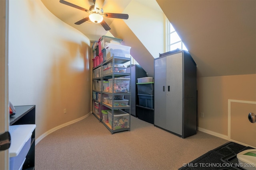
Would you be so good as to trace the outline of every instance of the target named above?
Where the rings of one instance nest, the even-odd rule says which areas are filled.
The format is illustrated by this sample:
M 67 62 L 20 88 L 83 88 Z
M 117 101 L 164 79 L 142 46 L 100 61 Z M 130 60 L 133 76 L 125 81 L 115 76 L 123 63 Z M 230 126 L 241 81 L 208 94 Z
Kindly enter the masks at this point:
M 9 131 L 8 93 L 9 0 L 0 0 L 0 133 Z M 9 169 L 9 150 L 0 151 L 0 169 Z

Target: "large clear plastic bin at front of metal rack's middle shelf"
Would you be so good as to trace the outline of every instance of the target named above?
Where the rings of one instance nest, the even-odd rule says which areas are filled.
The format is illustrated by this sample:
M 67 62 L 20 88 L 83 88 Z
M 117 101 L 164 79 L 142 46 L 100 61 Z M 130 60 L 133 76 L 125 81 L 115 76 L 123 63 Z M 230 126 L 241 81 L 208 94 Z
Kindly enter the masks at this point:
M 108 79 L 109 92 L 112 92 L 113 79 Z M 114 78 L 114 92 L 129 92 L 130 78 Z

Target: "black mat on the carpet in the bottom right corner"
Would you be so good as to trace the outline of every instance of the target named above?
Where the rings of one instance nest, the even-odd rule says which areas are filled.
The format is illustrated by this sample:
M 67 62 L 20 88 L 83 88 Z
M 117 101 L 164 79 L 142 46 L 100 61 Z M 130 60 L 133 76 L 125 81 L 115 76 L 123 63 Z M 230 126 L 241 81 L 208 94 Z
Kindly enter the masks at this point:
M 210 150 L 179 170 L 243 170 L 236 154 L 243 150 L 254 149 L 234 142 L 228 142 L 214 150 Z

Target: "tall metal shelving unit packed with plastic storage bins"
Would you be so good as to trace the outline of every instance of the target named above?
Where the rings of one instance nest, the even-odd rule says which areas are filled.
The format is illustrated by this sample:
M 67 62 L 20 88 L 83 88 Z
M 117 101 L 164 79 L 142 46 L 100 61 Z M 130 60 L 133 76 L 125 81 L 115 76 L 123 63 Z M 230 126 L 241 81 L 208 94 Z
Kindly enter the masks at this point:
M 95 42 L 93 82 L 92 82 L 92 113 L 112 133 L 130 131 L 130 113 L 122 109 L 130 109 L 130 76 L 123 63 L 131 61 L 130 48 L 121 45 L 122 39 L 102 36 Z M 95 47 L 96 46 L 96 47 Z

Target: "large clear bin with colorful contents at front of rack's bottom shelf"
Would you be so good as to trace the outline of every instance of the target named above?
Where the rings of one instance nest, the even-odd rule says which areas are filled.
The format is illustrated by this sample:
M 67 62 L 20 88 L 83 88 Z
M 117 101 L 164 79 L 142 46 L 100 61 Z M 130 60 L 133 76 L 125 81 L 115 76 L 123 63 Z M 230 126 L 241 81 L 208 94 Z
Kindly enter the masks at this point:
M 108 123 L 112 127 L 112 110 L 108 110 Z M 129 127 L 129 113 L 122 110 L 114 110 L 114 126 L 113 129 L 121 129 Z

